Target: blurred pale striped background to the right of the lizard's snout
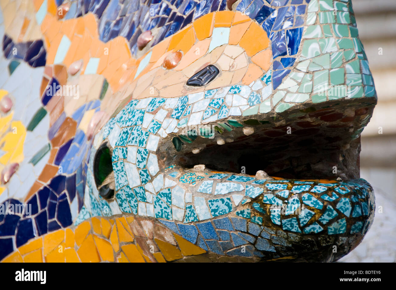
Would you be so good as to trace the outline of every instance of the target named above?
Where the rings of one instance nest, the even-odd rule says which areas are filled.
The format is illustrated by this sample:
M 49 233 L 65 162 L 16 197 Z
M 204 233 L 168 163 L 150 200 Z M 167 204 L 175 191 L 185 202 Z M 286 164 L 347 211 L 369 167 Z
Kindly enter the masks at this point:
M 362 243 L 339 262 L 396 262 L 396 0 L 352 5 L 378 95 L 360 153 L 360 177 L 375 190 L 376 210 Z

